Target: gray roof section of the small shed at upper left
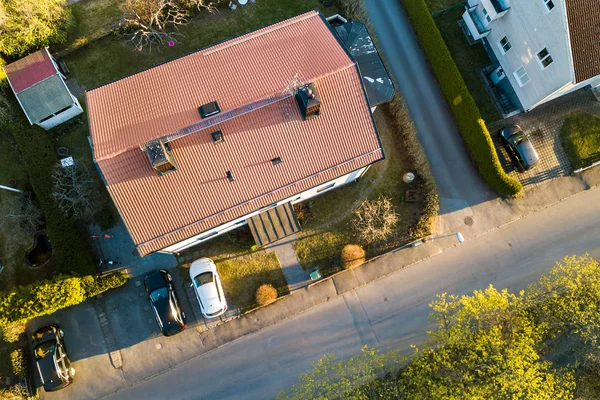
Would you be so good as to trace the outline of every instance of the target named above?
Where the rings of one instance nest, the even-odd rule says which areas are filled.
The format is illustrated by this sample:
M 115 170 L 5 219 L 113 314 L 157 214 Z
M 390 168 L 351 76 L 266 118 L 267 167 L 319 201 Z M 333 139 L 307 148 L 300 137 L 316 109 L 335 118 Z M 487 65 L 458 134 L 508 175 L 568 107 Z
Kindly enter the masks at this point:
M 71 94 L 58 74 L 17 93 L 17 98 L 34 124 L 73 104 Z

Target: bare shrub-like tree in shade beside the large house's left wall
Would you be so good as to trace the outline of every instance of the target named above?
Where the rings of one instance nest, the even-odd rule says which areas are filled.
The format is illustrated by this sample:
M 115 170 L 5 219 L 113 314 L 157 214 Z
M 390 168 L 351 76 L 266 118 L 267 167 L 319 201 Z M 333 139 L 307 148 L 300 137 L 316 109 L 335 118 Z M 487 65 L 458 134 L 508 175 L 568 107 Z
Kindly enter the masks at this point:
M 52 181 L 52 196 L 65 216 L 92 217 L 95 211 L 93 179 L 85 163 L 74 159 L 73 164 L 67 167 L 57 164 L 52 172 Z

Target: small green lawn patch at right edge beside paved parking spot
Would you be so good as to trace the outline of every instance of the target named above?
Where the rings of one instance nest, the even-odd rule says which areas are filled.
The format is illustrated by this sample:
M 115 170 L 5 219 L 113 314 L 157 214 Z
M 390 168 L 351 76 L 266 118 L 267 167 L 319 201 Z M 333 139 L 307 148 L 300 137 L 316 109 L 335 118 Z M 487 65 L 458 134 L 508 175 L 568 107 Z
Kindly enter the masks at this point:
M 600 117 L 587 113 L 570 115 L 560 138 L 573 169 L 600 161 Z

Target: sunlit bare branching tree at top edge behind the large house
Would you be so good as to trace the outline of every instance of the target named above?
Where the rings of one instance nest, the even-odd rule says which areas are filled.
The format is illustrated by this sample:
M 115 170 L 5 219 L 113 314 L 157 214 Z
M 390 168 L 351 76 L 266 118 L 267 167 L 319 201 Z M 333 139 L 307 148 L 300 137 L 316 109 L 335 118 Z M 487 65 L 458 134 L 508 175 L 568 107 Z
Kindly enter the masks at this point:
M 217 10 L 210 0 L 126 0 L 121 11 L 129 41 L 139 51 L 177 42 L 183 35 L 170 29 L 187 24 L 192 8 Z

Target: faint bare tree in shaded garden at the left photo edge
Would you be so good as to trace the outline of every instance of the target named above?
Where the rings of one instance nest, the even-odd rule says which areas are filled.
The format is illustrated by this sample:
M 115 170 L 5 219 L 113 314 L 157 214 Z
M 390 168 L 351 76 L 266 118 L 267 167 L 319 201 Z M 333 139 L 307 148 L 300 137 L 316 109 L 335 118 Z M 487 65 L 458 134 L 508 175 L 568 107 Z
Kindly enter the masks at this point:
M 32 236 L 42 224 L 42 213 L 27 195 L 5 194 L 0 199 L 0 233 L 6 242 Z

